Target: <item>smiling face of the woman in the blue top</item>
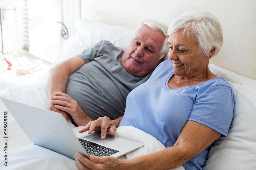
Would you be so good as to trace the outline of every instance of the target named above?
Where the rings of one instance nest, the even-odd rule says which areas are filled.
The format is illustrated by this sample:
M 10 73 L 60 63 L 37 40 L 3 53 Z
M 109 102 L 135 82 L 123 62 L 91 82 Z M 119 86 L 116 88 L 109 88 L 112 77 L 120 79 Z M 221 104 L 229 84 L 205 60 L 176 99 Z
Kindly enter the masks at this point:
M 183 29 L 169 35 L 168 58 L 173 63 L 173 73 L 185 79 L 198 77 L 206 71 L 209 57 L 201 53 L 193 35 L 183 35 Z

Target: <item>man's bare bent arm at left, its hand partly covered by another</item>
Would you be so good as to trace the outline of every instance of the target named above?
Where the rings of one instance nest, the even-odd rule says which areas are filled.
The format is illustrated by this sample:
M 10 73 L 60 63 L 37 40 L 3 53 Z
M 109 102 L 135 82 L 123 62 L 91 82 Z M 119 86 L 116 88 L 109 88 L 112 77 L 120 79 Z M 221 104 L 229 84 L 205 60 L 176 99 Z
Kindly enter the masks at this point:
M 50 101 L 51 97 L 55 96 L 54 92 L 65 93 L 69 75 L 78 70 L 85 63 L 86 62 L 81 57 L 74 56 L 50 69 L 46 84 L 46 93 Z M 65 119 L 68 118 L 68 114 L 57 109 L 55 104 L 50 103 L 49 110 L 61 113 Z

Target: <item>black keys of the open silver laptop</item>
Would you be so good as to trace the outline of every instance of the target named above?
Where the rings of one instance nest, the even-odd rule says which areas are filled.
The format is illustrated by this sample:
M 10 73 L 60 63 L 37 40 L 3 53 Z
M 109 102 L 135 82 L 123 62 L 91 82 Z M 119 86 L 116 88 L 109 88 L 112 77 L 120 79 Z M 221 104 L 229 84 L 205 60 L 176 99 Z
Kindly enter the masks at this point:
M 119 152 L 118 150 L 98 145 L 97 143 L 93 143 L 84 139 L 78 138 L 78 140 L 82 144 L 83 148 L 86 150 L 89 156 L 110 156 Z

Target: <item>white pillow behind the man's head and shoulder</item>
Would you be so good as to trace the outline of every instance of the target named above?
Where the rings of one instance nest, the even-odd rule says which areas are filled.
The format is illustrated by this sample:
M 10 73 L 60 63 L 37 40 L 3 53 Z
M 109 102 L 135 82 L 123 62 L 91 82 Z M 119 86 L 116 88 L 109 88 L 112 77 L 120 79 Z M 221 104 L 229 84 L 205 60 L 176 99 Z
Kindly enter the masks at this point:
M 79 20 L 76 23 L 76 35 L 72 46 L 64 54 L 58 56 L 51 67 L 70 57 L 81 54 L 83 50 L 101 40 L 110 41 L 114 46 L 124 51 L 130 43 L 133 29 L 123 27 L 122 23 L 111 26 L 89 19 Z

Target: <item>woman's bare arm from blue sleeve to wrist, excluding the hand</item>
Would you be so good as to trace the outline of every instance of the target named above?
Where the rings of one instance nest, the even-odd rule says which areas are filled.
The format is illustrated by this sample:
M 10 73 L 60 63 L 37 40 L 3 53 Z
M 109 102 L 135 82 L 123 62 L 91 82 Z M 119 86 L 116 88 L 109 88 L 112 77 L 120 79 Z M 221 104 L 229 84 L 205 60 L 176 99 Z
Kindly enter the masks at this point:
M 159 152 L 126 160 L 125 166 L 138 169 L 169 169 L 183 165 L 206 149 L 221 134 L 205 125 L 188 120 L 176 143 Z M 134 169 L 134 168 L 133 168 Z

